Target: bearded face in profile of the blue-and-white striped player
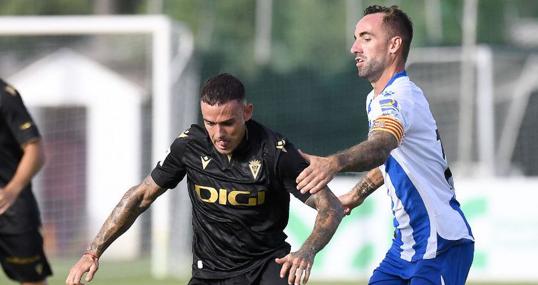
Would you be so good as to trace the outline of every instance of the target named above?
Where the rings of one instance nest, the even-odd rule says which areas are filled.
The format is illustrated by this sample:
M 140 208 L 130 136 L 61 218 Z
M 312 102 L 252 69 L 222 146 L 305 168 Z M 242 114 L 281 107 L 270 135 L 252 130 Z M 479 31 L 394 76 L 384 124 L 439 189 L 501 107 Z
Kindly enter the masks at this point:
M 351 53 L 360 77 L 377 81 L 389 59 L 389 36 L 383 24 L 383 14 L 364 16 L 355 26 L 355 41 Z

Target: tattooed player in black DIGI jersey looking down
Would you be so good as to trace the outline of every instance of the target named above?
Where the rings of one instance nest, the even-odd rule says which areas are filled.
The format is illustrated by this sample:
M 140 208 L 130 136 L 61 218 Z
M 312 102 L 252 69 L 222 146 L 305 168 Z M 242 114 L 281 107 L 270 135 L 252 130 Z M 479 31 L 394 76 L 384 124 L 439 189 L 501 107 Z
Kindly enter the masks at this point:
M 243 84 L 229 74 L 202 88 L 204 126 L 181 133 L 144 181 L 113 210 L 67 277 L 90 281 L 105 249 L 166 189 L 187 176 L 192 203 L 193 264 L 190 285 L 305 284 L 314 257 L 330 240 L 343 209 L 330 190 L 301 194 L 295 179 L 307 167 L 280 134 L 251 120 Z M 290 193 L 317 209 L 314 229 L 290 253 L 284 228 Z

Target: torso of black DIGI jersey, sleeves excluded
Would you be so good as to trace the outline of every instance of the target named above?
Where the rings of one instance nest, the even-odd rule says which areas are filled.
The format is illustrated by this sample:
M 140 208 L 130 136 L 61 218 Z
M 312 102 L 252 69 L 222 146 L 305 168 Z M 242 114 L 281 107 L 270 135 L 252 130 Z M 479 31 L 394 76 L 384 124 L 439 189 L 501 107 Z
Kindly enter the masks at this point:
M 208 141 L 187 146 L 183 161 L 197 274 L 241 271 L 288 247 L 283 230 L 289 194 L 273 174 L 275 141 L 260 135 L 251 130 L 249 143 L 243 142 L 231 157 L 216 152 Z

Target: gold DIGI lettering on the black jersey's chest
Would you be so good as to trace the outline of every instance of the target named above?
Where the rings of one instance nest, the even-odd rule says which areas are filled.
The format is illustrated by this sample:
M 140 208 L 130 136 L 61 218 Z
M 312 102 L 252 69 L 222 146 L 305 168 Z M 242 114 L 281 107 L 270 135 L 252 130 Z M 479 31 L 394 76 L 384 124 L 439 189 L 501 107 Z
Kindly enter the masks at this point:
M 253 193 L 236 189 L 216 189 L 198 184 L 194 185 L 194 191 L 198 195 L 198 199 L 206 203 L 232 206 L 257 206 L 265 203 L 265 191 Z

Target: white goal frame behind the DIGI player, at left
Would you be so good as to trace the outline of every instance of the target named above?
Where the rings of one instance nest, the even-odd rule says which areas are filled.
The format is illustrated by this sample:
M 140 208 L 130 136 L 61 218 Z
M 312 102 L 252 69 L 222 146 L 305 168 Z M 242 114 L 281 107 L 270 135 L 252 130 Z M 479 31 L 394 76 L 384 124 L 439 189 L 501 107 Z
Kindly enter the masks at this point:
M 155 165 L 176 134 L 197 120 L 199 107 L 194 98 L 198 95 L 198 75 L 192 70 L 194 42 L 189 29 L 162 15 L 0 17 L 0 37 L 101 35 L 144 35 L 151 38 L 151 70 L 147 79 L 150 82 L 150 90 L 147 92 L 152 95 L 152 118 L 151 154 L 148 156 L 151 157 L 152 165 Z M 182 84 L 188 88 L 181 88 L 181 91 L 172 90 Z M 178 101 L 189 106 L 175 108 L 174 104 Z M 182 110 L 182 113 L 173 112 L 177 109 Z M 125 190 L 127 189 L 122 189 Z M 169 273 L 171 197 L 185 199 L 185 196 L 177 196 L 162 195 L 151 208 L 152 272 L 157 277 L 164 277 Z M 182 204 L 188 206 L 188 203 Z M 188 215 L 180 218 L 188 219 Z M 88 239 L 95 233 L 89 234 Z M 190 258 L 190 252 L 185 252 L 185 255 Z M 190 268 L 190 264 L 182 266 Z

